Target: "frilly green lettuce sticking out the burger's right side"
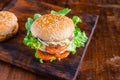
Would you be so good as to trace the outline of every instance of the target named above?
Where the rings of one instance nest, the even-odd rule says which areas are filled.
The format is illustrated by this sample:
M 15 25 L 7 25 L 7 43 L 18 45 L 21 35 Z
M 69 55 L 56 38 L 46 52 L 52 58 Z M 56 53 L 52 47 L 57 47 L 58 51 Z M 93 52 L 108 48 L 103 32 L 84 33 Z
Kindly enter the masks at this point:
M 77 27 L 77 24 L 79 22 L 82 22 L 82 20 L 78 16 L 73 16 L 72 18 L 75 29 L 74 29 L 74 36 L 71 41 L 71 44 L 68 48 L 68 51 L 71 51 L 72 54 L 76 53 L 76 48 L 77 47 L 84 47 L 85 42 L 88 40 L 85 32 L 82 32 L 79 27 Z

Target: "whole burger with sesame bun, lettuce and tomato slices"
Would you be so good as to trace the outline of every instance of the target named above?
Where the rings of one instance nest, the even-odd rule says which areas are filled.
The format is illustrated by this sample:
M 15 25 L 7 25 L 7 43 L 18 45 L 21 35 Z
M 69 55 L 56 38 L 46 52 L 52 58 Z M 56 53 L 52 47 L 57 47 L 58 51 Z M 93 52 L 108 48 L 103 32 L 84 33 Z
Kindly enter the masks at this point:
M 87 36 L 80 31 L 77 23 L 81 22 L 78 16 L 65 16 L 70 9 L 65 8 L 51 14 L 35 14 L 26 22 L 27 35 L 24 44 L 35 49 L 35 57 L 43 61 L 61 60 L 70 53 L 75 54 L 76 48 L 84 46 Z

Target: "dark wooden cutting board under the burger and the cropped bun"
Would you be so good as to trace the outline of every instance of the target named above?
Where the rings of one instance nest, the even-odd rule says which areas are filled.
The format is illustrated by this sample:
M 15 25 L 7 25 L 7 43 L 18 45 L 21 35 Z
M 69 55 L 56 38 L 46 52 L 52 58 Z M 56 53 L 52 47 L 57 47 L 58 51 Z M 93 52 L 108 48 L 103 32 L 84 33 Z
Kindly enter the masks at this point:
M 85 31 L 89 40 L 85 47 L 77 49 L 75 55 L 70 55 L 68 58 L 60 62 L 54 61 L 52 63 L 45 62 L 44 64 L 40 64 L 34 57 L 34 50 L 23 44 L 23 38 L 26 35 L 25 22 L 28 17 L 33 17 L 33 14 L 35 13 L 47 14 L 50 13 L 51 10 L 60 9 L 62 8 L 40 2 L 39 0 L 12 0 L 4 10 L 16 14 L 19 20 L 19 31 L 13 38 L 0 43 L 0 60 L 39 75 L 54 77 L 53 79 L 55 80 L 74 80 L 95 30 L 98 20 L 97 15 L 80 14 L 74 11 L 71 11 L 67 15 L 69 17 L 77 15 L 83 20 L 83 23 L 79 24 L 79 27 L 82 31 Z

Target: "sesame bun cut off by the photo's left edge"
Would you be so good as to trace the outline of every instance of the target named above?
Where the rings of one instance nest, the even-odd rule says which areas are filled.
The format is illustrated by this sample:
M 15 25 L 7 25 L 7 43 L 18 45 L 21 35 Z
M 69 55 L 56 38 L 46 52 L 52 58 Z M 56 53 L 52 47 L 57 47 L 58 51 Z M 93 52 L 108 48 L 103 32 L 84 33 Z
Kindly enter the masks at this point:
M 11 12 L 0 11 L 0 42 L 12 37 L 17 31 L 17 17 Z

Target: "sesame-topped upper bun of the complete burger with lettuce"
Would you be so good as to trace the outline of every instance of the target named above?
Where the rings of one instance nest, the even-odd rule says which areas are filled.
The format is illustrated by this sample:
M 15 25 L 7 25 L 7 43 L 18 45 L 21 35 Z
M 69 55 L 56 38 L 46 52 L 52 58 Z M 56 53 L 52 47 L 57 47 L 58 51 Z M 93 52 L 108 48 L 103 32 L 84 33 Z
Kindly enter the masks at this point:
M 73 21 L 58 14 L 43 15 L 35 20 L 31 26 L 34 37 L 48 42 L 65 40 L 73 34 L 73 31 Z

